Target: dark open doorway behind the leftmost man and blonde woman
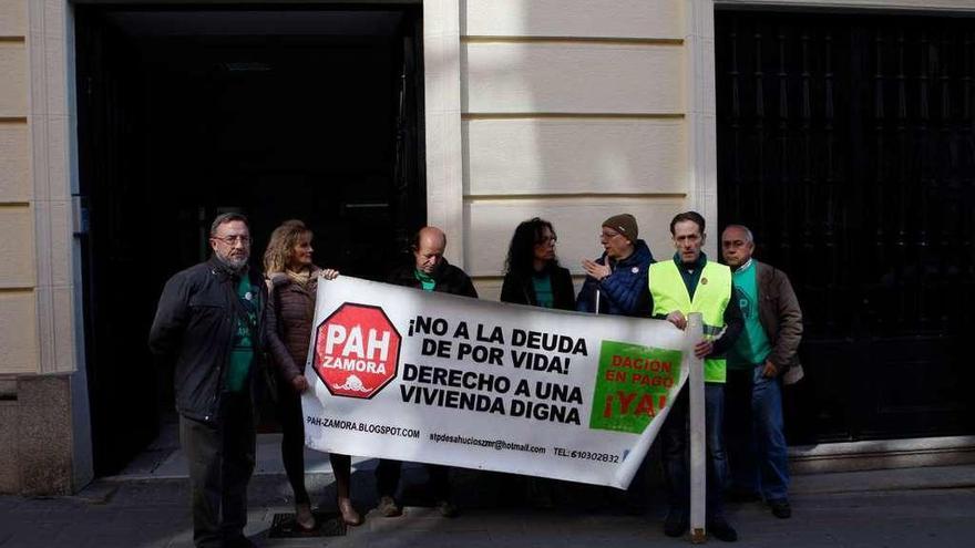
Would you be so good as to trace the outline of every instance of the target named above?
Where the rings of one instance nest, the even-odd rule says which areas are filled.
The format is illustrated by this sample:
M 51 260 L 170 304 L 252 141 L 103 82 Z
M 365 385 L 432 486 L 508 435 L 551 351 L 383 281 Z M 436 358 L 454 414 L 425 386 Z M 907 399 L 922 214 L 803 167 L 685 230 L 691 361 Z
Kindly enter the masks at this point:
M 412 3 L 412 2 L 411 2 Z M 418 6 L 75 7 L 85 348 L 98 474 L 172 415 L 146 335 L 218 213 L 315 231 L 316 262 L 378 279 L 425 220 Z

